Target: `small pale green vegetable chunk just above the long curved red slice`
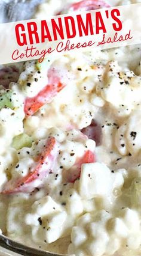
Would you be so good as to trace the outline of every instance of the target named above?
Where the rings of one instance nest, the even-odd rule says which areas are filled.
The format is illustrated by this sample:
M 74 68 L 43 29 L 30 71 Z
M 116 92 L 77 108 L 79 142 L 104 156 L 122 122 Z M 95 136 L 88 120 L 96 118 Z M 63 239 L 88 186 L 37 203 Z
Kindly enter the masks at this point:
M 23 147 L 30 148 L 32 147 L 32 139 L 26 133 L 22 133 L 13 138 L 11 147 L 16 150 L 20 150 Z

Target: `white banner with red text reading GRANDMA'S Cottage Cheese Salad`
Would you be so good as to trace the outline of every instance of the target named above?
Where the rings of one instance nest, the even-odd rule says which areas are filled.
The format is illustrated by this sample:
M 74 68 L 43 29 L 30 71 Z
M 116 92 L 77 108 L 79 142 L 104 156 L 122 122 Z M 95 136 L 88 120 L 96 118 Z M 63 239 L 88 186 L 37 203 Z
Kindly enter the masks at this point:
M 0 64 L 141 43 L 141 4 L 0 24 Z

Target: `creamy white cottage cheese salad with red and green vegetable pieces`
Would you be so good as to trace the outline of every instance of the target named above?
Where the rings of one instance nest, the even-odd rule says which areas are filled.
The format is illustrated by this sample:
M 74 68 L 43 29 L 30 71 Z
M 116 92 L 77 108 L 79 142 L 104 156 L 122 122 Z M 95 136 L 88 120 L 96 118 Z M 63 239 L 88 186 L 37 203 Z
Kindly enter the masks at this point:
M 35 17 L 140 1 L 50 0 Z M 58 254 L 141 255 L 140 46 L 0 70 L 0 228 Z

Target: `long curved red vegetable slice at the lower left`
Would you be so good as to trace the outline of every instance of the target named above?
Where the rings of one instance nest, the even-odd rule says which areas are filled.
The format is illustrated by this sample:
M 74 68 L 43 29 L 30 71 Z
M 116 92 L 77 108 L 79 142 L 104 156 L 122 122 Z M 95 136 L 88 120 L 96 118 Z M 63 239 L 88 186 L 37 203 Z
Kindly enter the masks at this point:
M 50 172 L 58 153 L 56 139 L 54 137 L 49 138 L 44 150 L 42 150 L 42 153 L 38 157 L 36 167 L 33 169 L 33 171 L 30 171 L 26 177 L 20 178 L 19 180 L 12 179 L 8 181 L 4 190 L 2 191 L 2 194 L 30 192 L 31 190 L 35 189 L 35 185 L 30 183 L 40 177 L 44 178 L 44 176 Z

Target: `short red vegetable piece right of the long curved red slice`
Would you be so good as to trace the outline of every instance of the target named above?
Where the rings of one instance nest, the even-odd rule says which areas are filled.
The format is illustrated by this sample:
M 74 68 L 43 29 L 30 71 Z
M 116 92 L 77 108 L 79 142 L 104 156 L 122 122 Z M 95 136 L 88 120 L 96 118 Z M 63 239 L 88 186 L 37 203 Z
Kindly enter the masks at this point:
M 81 158 L 76 160 L 75 165 L 72 166 L 71 169 L 66 171 L 66 181 L 70 183 L 74 183 L 77 178 L 81 175 L 81 165 L 84 163 L 94 163 L 96 162 L 96 157 L 93 152 L 87 150 Z

